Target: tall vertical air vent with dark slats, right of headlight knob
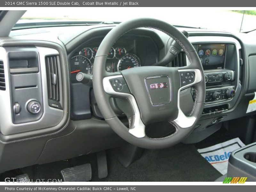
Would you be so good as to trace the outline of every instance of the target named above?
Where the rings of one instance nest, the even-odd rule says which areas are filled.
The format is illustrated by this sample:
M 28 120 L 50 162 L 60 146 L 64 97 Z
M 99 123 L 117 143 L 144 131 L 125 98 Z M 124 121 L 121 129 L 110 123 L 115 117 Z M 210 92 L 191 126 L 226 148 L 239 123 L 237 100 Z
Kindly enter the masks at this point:
M 57 55 L 45 57 L 48 99 L 54 101 L 60 100 L 60 87 L 58 78 L 59 62 L 59 56 Z

